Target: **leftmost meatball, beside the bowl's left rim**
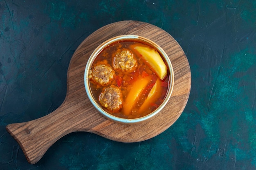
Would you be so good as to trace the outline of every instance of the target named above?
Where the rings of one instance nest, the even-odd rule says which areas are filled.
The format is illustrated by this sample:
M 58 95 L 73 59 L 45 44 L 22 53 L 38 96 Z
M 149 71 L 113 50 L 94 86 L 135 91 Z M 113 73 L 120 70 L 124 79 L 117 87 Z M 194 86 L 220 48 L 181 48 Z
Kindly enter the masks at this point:
M 89 72 L 89 78 L 99 85 L 108 85 L 112 82 L 115 71 L 106 64 L 98 64 Z

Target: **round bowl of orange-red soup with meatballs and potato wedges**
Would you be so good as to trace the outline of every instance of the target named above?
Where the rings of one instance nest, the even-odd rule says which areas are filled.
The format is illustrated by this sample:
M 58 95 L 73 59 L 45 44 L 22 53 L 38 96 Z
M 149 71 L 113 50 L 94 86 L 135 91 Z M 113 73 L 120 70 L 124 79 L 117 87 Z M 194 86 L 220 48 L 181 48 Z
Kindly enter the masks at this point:
M 174 74 L 168 55 L 155 42 L 120 35 L 92 52 L 84 83 L 99 113 L 117 123 L 137 124 L 154 118 L 167 104 Z

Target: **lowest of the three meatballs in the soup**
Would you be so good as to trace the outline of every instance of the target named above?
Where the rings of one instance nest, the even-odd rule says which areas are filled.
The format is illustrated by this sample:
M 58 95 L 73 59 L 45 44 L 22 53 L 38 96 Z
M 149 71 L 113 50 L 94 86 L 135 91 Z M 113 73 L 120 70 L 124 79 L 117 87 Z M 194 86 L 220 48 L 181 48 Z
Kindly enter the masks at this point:
M 104 87 L 99 95 L 99 102 L 111 112 L 118 111 L 122 107 L 120 89 L 115 85 Z

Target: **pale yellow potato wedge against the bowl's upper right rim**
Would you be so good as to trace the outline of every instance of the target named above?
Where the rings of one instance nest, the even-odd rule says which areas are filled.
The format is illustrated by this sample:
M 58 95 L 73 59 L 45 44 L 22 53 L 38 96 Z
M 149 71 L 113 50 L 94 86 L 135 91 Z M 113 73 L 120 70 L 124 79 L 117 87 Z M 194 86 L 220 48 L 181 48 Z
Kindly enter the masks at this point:
M 163 80 L 167 75 L 167 66 L 157 50 L 145 46 L 135 46 L 134 48 L 141 54 L 141 57 L 148 61 L 155 74 Z

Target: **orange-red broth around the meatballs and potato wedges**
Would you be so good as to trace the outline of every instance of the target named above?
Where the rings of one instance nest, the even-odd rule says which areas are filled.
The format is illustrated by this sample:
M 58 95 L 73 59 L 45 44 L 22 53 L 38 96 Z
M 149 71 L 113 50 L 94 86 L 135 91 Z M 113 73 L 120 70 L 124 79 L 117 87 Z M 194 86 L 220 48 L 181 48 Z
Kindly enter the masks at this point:
M 94 98 L 97 100 L 98 104 L 108 113 L 112 114 L 113 116 L 119 117 L 119 118 L 128 118 L 128 119 L 134 119 L 134 118 L 140 118 L 143 116 L 148 115 L 149 113 L 153 112 L 159 105 L 162 104 L 166 93 L 169 88 L 169 81 L 170 81 L 170 75 L 167 73 L 167 76 L 164 78 L 164 80 L 161 80 L 161 92 L 159 93 L 158 98 L 154 99 L 152 103 L 150 103 L 150 106 L 144 109 L 144 111 L 139 111 L 140 106 L 143 104 L 144 100 L 147 98 L 150 90 L 152 89 L 153 85 L 157 81 L 158 76 L 155 74 L 154 70 L 150 68 L 150 66 L 147 64 L 147 61 L 145 61 L 143 58 L 140 57 L 140 54 L 134 49 L 135 46 L 147 46 L 146 44 L 143 44 L 141 42 L 137 41 L 118 41 L 114 44 L 109 45 L 105 49 L 103 49 L 98 56 L 95 58 L 92 65 L 99 61 L 107 62 L 109 65 L 112 66 L 112 54 L 119 48 L 126 48 L 132 51 L 133 56 L 137 60 L 137 68 L 135 71 L 131 73 L 124 73 L 121 71 L 115 71 L 115 78 L 112 81 L 110 85 L 115 85 L 120 88 L 123 103 L 126 100 L 126 96 L 128 95 L 132 84 L 135 83 L 138 79 L 144 78 L 146 76 L 150 76 L 150 81 L 148 82 L 148 85 L 145 89 L 142 90 L 142 92 L 139 94 L 138 100 L 136 100 L 135 106 L 132 108 L 132 111 L 130 114 L 124 114 L 123 108 L 121 108 L 117 112 L 110 112 L 108 109 L 102 107 L 99 103 L 99 95 L 101 94 L 101 91 L 103 89 L 103 86 L 96 85 L 92 81 L 90 81 L 90 88 L 92 90 L 92 94 Z M 152 47 L 150 47 L 152 48 Z M 161 55 L 161 54 L 160 54 Z M 162 57 L 162 56 L 161 56 Z M 163 58 L 163 57 L 162 57 Z M 166 64 L 166 62 L 165 62 Z M 113 66 L 112 66 L 113 67 Z M 109 86 L 110 86 L 109 85 Z M 106 87 L 106 86 L 105 86 Z

